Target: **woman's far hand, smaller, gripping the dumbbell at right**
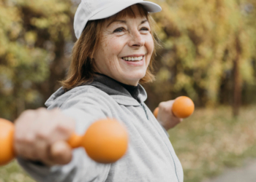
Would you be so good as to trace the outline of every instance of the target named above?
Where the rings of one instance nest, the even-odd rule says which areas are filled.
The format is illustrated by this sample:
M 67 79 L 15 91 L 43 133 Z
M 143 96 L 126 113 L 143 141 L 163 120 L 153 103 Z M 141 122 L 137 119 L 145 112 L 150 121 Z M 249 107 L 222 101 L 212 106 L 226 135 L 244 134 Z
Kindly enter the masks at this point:
M 159 103 L 157 120 L 163 127 L 165 127 L 165 130 L 175 127 L 176 124 L 182 121 L 182 119 L 174 116 L 172 112 L 173 103 L 174 100 Z

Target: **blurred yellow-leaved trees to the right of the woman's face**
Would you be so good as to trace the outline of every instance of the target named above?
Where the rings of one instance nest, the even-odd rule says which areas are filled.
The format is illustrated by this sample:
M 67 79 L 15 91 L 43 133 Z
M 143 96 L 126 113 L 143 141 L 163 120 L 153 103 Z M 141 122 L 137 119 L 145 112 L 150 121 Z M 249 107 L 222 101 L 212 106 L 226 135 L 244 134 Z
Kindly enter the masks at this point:
M 161 100 L 180 94 L 200 106 L 232 100 L 237 115 L 242 85 L 254 82 L 251 40 L 256 34 L 242 9 L 247 1 L 156 2 L 162 7 L 154 20 L 163 48 L 158 51 L 157 82 L 151 87 Z

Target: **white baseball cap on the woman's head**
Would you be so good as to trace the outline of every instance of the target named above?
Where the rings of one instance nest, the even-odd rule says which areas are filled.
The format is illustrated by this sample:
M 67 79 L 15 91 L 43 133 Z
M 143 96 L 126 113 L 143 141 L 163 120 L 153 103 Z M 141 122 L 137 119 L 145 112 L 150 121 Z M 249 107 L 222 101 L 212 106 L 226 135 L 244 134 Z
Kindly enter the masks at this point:
M 110 17 L 133 4 L 142 4 L 148 12 L 160 12 L 162 10 L 158 4 L 143 0 L 82 0 L 75 12 L 75 36 L 80 37 L 89 20 Z

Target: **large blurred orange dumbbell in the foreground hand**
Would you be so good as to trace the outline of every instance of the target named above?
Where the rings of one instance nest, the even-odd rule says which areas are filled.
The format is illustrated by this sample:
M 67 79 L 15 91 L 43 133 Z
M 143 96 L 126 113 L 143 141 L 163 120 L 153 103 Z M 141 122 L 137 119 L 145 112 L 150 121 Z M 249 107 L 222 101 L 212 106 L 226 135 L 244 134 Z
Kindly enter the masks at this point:
M 0 119 L 0 166 L 15 158 L 13 148 L 15 125 Z M 82 146 L 100 163 L 112 163 L 124 156 L 128 147 L 127 129 L 115 119 L 101 119 L 91 124 L 83 136 L 75 133 L 67 141 L 72 149 Z

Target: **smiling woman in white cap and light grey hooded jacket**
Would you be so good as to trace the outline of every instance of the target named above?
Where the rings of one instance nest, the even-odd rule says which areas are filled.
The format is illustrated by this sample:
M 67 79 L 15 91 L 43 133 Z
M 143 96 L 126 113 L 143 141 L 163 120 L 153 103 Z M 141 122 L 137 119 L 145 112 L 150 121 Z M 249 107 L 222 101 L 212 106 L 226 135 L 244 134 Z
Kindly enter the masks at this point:
M 157 41 L 149 12 L 160 10 L 143 0 L 81 1 L 74 23 L 78 41 L 63 87 L 46 101 L 48 110 L 25 111 L 16 120 L 15 154 L 37 181 L 183 181 L 181 163 L 166 135 L 181 122 L 171 112 L 173 100 L 159 104 L 157 120 L 140 85 L 154 80 Z M 107 118 L 121 122 L 129 135 L 128 150 L 117 162 L 99 164 L 89 158 L 102 153 L 98 147 L 89 154 L 72 151 L 64 142 Z M 89 141 L 97 138 L 91 135 Z M 108 146 L 105 151 L 121 148 L 110 147 L 107 135 L 100 138 Z

